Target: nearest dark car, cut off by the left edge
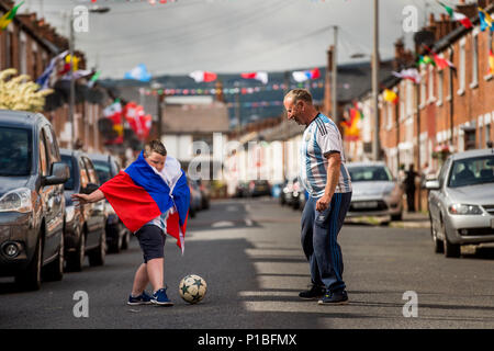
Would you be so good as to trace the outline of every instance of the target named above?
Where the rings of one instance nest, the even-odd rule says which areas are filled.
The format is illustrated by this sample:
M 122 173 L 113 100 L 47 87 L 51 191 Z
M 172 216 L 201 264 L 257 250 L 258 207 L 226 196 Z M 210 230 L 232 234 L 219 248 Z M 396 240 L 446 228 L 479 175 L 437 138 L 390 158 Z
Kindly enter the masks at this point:
M 0 111 L 0 275 L 26 290 L 63 279 L 67 179 L 49 122 Z

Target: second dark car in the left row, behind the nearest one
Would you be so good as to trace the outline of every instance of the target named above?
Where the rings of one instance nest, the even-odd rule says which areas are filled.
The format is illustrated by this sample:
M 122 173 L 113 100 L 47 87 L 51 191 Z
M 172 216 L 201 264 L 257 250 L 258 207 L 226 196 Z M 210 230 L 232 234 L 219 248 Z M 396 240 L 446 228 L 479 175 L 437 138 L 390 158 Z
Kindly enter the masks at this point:
M 104 201 L 76 205 L 74 193 L 90 194 L 99 188 L 100 180 L 89 156 L 82 151 L 61 149 L 61 161 L 70 169 L 65 183 L 65 252 L 70 271 L 82 269 L 86 256 L 90 265 L 104 264 L 106 234 L 104 231 Z

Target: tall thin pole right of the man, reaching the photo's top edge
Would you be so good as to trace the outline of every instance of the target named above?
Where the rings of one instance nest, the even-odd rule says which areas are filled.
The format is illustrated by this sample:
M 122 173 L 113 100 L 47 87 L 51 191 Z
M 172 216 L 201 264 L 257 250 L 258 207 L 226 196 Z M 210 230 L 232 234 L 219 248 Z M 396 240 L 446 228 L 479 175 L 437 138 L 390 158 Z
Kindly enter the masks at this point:
M 374 135 L 372 139 L 372 159 L 380 159 L 381 146 L 379 143 L 379 0 L 374 0 L 374 45 L 372 53 L 372 109 L 374 112 Z

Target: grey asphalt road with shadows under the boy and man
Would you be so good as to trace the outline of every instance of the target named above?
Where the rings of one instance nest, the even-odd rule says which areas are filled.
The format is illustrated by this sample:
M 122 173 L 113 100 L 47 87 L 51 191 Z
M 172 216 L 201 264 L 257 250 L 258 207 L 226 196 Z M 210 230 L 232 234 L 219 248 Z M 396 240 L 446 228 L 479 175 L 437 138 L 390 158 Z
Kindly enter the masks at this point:
M 37 292 L 19 292 L 0 279 L 0 328 L 494 328 L 493 250 L 446 259 L 433 252 L 427 229 L 345 225 L 339 242 L 349 305 L 299 299 L 310 282 L 300 217 L 269 199 L 213 202 L 190 219 L 183 257 L 175 239 L 167 240 L 171 308 L 126 305 L 142 262 L 136 239 L 106 256 L 104 267 L 86 261 L 82 272 Z M 190 273 L 209 284 L 198 305 L 178 293 Z M 88 294 L 88 317 L 74 315 L 79 291 Z M 403 314 L 408 291 L 417 308 L 405 309 L 416 317 Z

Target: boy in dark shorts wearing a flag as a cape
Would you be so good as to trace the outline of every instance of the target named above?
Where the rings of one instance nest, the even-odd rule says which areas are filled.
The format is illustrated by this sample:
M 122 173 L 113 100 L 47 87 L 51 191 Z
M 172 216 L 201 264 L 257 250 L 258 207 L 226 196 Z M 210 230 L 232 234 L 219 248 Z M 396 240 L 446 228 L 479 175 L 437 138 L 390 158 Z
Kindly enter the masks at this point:
M 131 174 L 131 182 L 125 180 L 127 174 Z M 115 178 L 105 182 L 99 190 L 89 195 L 72 195 L 74 200 L 79 201 L 81 204 L 98 202 L 106 197 L 130 229 L 134 227 L 135 222 L 128 220 L 127 217 L 136 219 L 143 213 L 145 214 L 145 219 L 137 223 L 135 225 L 135 230 L 133 230 L 135 231 L 143 250 L 144 263 L 139 265 L 135 273 L 134 284 L 127 302 L 128 305 L 151 303 L 159 306 L 173 305 L 167 296 L 167 288 L 164 284 L 164 246 L 169 210 L 173 203 L 170 194 L 173 189 L 183 186 L 183 184 L 179 184 L 179 179 L 182 177 L 184 176 L 182 176 L 179 161 L 172 157 L 167 157 L 167 150 L 161 141 L 151 140 L 145 145 L 145 148 L 137 160 L 134 161 L 125 172 L 119 173 Z M 125 194 L 119 193 L 119 189 L 122 188 L 125 192 L 131 193 L 135 188 L 134 183 L 136 183 L 136 181 L 137 183 L 139 181 L 142 183 L 137 184 L 141 186 L 141 192 L 137 193 L 135 199 L 132 199 L 131 196 L 125 197 Z M 188 192 L 189 188 L 186 188 L 186 192 Z M 155 192 L 151 197 L 159 197 L 158 201 L 167 203 L 162 206 L 165 211 L 161 211 L 161 208 L 158 208 L 155 204 L 157 212 L 155 214 L 148 214 L 149 207 L 145 207 L 148 205 L 146 204 L 145 196 L 143 196 L 143 189 L 154 190 Z M 187 195 L 188 194 L 186 194 L 186 197 Z M 189 203 L 188 199 L 186 199 L 186 203 Z M 153 208 L 153 204 L 150 208 Z M 154 294 L 151 296 L 145 292 L 149 282 L 154 288 Z

